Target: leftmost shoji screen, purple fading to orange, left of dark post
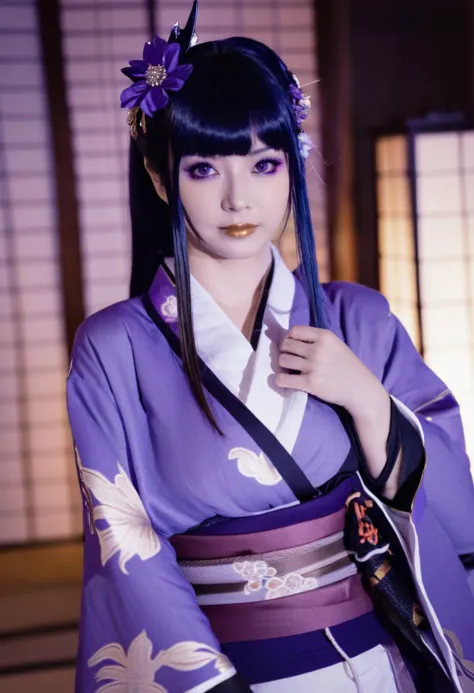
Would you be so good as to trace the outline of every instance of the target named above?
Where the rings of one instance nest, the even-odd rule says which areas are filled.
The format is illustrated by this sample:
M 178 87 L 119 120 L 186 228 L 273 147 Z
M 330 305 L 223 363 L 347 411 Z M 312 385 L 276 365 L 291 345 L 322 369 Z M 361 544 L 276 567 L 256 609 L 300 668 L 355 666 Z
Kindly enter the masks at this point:
M 34 0 L 0 6 L 0 543 L 68 537 L 75 481 L 56 200 Z

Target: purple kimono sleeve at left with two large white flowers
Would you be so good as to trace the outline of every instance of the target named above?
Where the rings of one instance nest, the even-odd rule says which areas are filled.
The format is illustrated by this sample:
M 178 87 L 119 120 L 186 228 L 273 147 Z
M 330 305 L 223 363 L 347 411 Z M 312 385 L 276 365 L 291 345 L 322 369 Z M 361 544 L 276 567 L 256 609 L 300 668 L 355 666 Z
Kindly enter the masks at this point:
M 249 691 L 221 653 L 162 528 L 150 521 L 123 414 L 84 330 L 67 401 L 85 533 L 76 693 Z

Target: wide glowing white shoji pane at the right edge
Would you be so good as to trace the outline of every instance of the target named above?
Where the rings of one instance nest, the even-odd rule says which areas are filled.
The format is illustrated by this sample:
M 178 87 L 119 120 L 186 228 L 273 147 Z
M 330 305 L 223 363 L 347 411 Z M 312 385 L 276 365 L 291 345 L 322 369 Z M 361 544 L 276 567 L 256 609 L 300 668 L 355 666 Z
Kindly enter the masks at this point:
M 474 469 L 474 131 L 414 149 L 424 355 L 461 404 Z

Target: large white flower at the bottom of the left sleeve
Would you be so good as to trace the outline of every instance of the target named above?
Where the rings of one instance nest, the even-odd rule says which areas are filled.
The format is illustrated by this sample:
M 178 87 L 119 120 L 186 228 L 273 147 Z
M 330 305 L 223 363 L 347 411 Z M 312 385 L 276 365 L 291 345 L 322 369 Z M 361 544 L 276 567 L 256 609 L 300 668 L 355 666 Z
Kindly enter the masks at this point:
M 114 693 L 168 693 L 164 686 L 155 683 L 156 673 L 162 667 L 194 671 L 214 662 L 220 673 L 232 668 L 225 655 L 194 641 L 178 642 L 161 650 L 154 658 L 152 654 L 153 644 L 144 630 L 130 643 L 127 653 L 118 643 L 102 647 L 89 659 L 89 667 L 107 660 L 114 664 L 107 664 L 96 672 L 97 682 L 108 681 L 96 693 L 112 690 Z

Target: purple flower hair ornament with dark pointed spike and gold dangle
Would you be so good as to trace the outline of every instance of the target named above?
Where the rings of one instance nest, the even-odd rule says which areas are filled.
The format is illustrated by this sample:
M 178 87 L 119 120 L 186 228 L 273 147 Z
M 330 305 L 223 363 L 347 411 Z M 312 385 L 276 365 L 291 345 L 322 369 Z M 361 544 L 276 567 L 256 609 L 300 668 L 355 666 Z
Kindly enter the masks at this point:
M 129 67 L 122 72 L 133 84 L 120 95 L 122 108 L 128 108 L 127 124 L 133 139 L 138 137 L 138 126 L 145 132 L 145 114 L 153 116 L 155 111 L 164 108 L 168 92 L 179 91 L 192 72 L 193 66 L 180 63 L 190 46 L 197 41 L 194 27 L 197 17 L 197 0 L 184 29 L 175 24 L 168 41 L 155 36 L 143 47 L 142 60 L 130 60 Z M 138 112 L 143 112 L 138 122 Z

